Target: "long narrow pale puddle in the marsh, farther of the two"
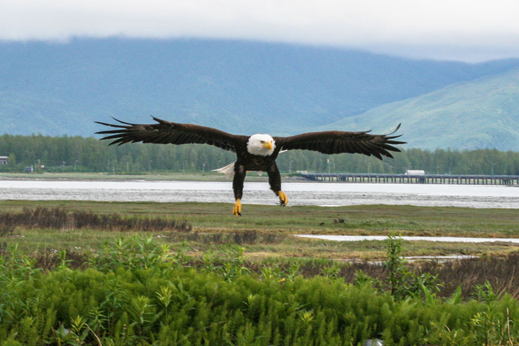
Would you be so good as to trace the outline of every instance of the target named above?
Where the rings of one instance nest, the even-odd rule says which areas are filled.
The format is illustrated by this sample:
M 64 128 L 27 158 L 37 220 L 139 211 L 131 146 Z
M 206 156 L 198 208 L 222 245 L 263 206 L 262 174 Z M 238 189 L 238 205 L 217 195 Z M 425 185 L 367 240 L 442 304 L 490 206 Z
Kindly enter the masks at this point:
M 331 236 L 325 234 L 295 234 L 296 237 L 314 238 L 323 240 L 356 242 L 363 240 L 387 240 L 387 236 Z M 402 240 L 421 240 L 431 242 L 464 242 L 464 243 L 485 243 L 485 242 L 506 242 L 519 243 L 519 238 L 465 238 L 465 237 L 400 237 Z

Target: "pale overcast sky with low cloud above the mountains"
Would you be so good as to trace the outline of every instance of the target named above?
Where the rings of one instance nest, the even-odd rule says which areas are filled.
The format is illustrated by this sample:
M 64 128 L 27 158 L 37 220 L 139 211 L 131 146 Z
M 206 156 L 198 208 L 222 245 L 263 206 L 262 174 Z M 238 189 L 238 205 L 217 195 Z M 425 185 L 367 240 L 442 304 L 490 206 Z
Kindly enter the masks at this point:
M 0 39 L 233 38 L 469 62 L 519 57 L 517 0 L 0 0 Z

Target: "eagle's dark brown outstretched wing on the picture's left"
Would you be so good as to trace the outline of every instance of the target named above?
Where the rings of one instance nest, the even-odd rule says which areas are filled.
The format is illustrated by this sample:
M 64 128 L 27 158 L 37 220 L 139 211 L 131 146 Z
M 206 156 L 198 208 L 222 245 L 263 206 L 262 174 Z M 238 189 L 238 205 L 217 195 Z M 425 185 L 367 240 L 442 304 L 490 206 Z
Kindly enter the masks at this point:
M 115 118 L 114 118 L 115 119 Z M 225 150 L 236 151 L 238 137 L 224 131 L 195 124 L 182 124 L 153 117 L 155 124 L 132 124 L 117 120 L 121 124 L 108 124 L 95 121 L 99 124 L 115 127 L 117 130 L 96 132 L 108 134 L 101 140 L 115 140 L 112 144 L 125 143 L 159 143 L 159 144 L 210 144 Z

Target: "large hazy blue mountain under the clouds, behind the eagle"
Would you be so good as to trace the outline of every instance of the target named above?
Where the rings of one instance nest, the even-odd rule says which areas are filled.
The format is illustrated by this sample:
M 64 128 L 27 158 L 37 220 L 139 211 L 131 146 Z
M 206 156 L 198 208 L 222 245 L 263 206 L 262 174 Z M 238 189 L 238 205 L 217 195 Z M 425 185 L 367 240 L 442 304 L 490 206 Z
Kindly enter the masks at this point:
M 94 120 L 148 122 L 149 115 L 234 133 L 293 134 L 519 66 L 252 41 L 120 38 L 3 42 L 0 62 L 0 133 L 83 136 L 100 129 Z

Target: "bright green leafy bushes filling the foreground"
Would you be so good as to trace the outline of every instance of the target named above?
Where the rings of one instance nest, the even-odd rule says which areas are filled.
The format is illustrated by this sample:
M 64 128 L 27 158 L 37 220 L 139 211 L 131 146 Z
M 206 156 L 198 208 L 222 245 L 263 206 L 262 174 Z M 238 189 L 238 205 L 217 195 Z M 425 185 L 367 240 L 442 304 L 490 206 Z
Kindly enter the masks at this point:
M 0 344 L 385 345 L 515 344 L 519 306 L 490 286 L 461 301 L 394 298 L 369 280 L 251 274 L 243 248 L 186 266 L 180 251 L 121 239 L 85 269 L 43 272 L 11 248 L 0 256 Z M 294 270 L 296 271 L 296 270 Z M 426 289 L 425 292 L 428 292 Z

